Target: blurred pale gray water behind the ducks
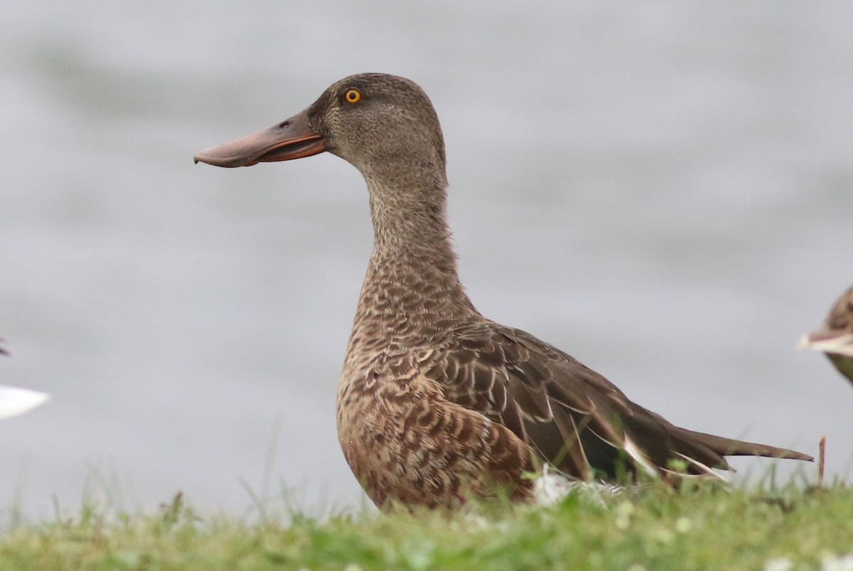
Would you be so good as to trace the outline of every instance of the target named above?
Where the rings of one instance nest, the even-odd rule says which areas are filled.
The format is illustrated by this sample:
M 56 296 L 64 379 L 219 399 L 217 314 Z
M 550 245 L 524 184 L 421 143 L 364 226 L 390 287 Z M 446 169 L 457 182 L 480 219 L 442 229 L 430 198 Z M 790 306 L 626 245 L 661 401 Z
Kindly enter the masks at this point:
M 364 71 L 432 97 L 484 314 L 676 424 L 808 453 L 826 434 L 850 478 L 853 390 L 795 344 L 853 284 L 851 21 L 845 2 L 4 3 L 0 383 L 53 398 L 2 424 L 0 506 L 361 504 L 334 428 L 361 177 L 192 156 Z

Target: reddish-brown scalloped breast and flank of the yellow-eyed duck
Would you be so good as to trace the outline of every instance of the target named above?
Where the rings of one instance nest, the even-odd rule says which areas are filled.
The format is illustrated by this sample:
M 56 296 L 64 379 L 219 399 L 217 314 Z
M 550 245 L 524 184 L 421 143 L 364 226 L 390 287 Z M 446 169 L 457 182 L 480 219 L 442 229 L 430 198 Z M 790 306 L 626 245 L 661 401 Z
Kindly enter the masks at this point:
M 522 476 L 535 454 L 511 430 L 444 399 L 415 370 L 392 360 L 371 382 L 352 384 L 339 407 L 339 437 L 352 470 L 377 505 L 458 505 L 467 494 L 530 493 Z

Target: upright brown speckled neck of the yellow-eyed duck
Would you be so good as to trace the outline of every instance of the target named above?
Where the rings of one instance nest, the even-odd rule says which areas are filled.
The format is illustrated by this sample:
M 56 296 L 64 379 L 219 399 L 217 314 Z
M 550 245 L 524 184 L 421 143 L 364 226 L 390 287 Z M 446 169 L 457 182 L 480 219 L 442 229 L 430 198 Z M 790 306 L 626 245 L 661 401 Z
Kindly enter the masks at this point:
M 430 344 L 476 313 L 456 272 L 444 176 L 365 176 L 374 246 L 350 349 Z

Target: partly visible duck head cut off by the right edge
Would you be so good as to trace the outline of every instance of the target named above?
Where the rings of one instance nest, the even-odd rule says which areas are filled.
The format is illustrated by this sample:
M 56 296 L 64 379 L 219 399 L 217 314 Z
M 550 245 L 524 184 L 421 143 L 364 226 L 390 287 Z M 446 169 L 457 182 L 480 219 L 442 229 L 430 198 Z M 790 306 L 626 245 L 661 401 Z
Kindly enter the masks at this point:
M 827 319 L 804 335 L 799 346 L 825 353 L 838 372 L 853 383 L 853 287 L 838 297 Z

